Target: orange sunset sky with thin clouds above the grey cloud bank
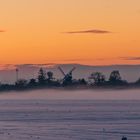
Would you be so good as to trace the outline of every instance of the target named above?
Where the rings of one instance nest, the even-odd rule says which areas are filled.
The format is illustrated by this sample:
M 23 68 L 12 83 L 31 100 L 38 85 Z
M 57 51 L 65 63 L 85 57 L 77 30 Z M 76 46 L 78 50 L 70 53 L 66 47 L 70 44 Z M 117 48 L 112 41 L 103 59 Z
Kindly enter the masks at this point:
M 140 64 L 140 0 L 1 0 L 0 64 Z

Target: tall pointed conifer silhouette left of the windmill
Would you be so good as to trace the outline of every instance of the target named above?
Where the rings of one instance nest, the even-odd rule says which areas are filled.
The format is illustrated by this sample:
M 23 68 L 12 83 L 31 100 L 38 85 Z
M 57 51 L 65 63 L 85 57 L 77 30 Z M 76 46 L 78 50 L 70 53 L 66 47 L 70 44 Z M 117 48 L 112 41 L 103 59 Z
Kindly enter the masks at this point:
M 46 79 L 46 72 L 40 68 L 38 72 L 38 83 L 43 86 L 46 84 Z

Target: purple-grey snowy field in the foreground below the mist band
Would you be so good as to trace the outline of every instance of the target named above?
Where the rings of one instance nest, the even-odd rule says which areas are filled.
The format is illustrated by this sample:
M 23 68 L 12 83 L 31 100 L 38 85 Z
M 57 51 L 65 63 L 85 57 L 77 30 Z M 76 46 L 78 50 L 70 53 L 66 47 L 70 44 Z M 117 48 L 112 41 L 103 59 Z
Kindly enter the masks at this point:
M 0 140 L 140 140 L 140 101 L 0 101 Z

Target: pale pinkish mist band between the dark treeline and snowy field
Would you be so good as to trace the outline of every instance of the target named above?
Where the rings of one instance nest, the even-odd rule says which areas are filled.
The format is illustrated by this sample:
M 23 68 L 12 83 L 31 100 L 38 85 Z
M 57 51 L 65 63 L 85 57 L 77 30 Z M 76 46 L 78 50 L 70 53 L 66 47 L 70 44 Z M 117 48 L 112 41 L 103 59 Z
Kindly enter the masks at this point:
M 4 92 L 0 100 L 140 100 L 139 90 L 35 90 Z

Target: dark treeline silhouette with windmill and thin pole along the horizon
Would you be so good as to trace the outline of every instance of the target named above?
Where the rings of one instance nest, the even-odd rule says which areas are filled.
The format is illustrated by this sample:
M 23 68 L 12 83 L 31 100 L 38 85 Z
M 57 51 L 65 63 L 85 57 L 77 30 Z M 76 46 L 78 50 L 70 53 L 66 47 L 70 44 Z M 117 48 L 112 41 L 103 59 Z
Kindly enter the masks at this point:
M 75 67 L 68 73 L 65 73 L 61 67 L 58 67 L 63 78 L 56 79 L 53 72 L 40 68 L 36 79 L 18 79 L 18 71 L 16 69 L 16 82 L 15 84 L 2 84 L 0 83 L 0 91 L 5 90 L 27 90 L 27 89 L 38 89 L 38 88 L 61 88 L 61 87 L 72 87 L 72 88 L 128 88 L 128 87 L 140 87 L 140 79 L 136 82 L 129 83 L 123 80 L 120 72 L 114 70 L 110 73 L 109 78 L 101 72 L 93 72 L 89 75 L 88 80 L 74 79 L 73 71 Z

